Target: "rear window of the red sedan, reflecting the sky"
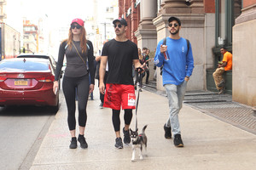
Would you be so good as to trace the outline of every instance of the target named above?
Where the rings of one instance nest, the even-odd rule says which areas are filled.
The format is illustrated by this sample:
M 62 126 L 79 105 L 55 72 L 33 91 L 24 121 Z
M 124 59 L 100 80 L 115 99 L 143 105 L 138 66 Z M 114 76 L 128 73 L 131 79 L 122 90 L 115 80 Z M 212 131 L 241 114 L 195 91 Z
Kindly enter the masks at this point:
M 2 60 L 0 62 L 0 71 L 49 71 L 49 65 L 43 61 L 29 61 L 26 60 Z

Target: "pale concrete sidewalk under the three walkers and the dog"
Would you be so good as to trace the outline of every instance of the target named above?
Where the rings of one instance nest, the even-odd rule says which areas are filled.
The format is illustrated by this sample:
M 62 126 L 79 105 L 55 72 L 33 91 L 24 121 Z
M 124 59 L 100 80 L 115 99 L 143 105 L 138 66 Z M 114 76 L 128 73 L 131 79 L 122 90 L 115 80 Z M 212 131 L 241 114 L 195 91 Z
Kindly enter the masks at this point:
M 137 93 L 137 92 L 136 92 Z M 61 108 L 49 127 L 31 170 L 74 169 L 195 169 L 251 170 L 256 167 L 256 135 L 183 105 L 179 119 L 183 148 L 164 138 L 168 116 L 167 99 L 143 90 L 138 106 L 138 127 L 148 124 L 148 152 L 143 161 L 131 162 L 131 144 L 114 148 L 111 110 L 100 109 L 98 88 L 87 107 L 85 138 L 87 150 L 68 148 L 67 107 L 61 94 Z M 135 128 L 135 111 L 131 128 Z M 123 111 L 120 114 L 124 126 Z M 78 133 L 78 132 L 77 132 Z M 138 156 L 137 156 L 138 158 Z

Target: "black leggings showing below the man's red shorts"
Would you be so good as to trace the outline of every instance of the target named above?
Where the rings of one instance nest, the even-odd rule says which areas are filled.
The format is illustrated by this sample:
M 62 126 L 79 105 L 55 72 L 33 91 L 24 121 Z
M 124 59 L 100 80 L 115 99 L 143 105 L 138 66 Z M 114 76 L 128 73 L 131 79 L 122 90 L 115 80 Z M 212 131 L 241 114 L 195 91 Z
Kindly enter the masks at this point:
M 132 118 L 132 110 L 125 109 L 125 125 L 130 125 Z M 112 122 L 113 122 L 113 129 L 114 132 L 120 131 L 120 110 L 112 110 Z

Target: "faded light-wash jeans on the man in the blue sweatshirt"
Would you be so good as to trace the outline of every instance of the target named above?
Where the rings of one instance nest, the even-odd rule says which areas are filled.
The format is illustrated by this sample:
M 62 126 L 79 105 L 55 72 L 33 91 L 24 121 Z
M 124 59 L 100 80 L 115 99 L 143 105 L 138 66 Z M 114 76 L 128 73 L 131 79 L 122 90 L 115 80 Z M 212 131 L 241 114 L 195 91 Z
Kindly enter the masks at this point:
M 172 127 L 172 133 L 180 134 L 178 113 L 183 107 L 183 99 L 187 88 L 187 81 L 180 85 L 166 84 L 166 94 L 169 99 L 170 115 L 166 122 L 166 127 Z

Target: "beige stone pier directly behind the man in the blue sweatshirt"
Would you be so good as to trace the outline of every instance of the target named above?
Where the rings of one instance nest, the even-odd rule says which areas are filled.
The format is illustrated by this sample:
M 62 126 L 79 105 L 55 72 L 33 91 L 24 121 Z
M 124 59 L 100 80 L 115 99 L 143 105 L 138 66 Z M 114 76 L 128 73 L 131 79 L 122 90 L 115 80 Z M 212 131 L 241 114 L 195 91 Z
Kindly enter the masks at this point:
M 161 5 L 160 14 L 154 18 L 154 26 L 157 31 L 157 42 L 168 37 L 168 19 L 174 15 L 182 22 L 180 36 L 189 39 L 194 55 L 194 71 L 189 80 L 188 90 L 203 90 L 206 88 L 206 56 L 205 48 L 205 14 L 203 0 L 191 1 L 188 6 L 185 0 L 166 0 Z M 212 34 L 213 35 L 213 34 Z M 160 71 L 158 71 L 160 72 Z M 158 74 L 157 89 L 165 90 L 162 85 L 162 77 Z

